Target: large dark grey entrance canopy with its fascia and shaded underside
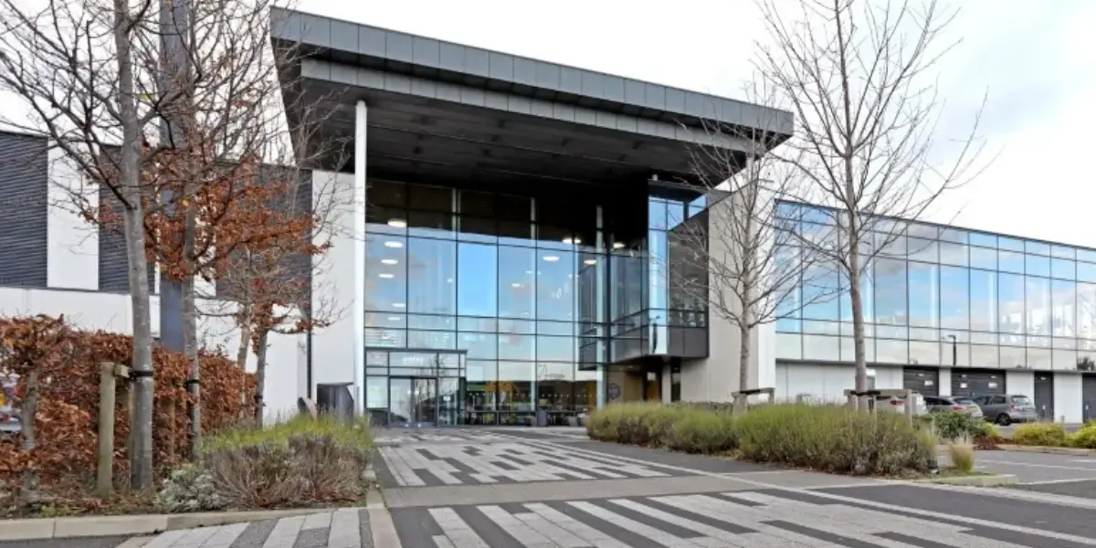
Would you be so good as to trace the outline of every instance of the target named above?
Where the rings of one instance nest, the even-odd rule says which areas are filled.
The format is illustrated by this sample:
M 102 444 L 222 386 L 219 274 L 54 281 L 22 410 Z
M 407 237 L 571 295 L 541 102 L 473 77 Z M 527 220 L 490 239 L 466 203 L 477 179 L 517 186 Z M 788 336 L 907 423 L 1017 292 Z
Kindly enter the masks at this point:
M 272 20 L 289 124 L 347 142 L 323 169 L 353 165 L 357 101 L 368 178 L 464 187 L 695 181 L 690 146 L 744 159 L 764 150 L 729 135 L 764 129 L 770 148 L 792 130 L 791 113 L 731 99 L 298 11 Z M 711 135 L 701 121 L 735 129 Z

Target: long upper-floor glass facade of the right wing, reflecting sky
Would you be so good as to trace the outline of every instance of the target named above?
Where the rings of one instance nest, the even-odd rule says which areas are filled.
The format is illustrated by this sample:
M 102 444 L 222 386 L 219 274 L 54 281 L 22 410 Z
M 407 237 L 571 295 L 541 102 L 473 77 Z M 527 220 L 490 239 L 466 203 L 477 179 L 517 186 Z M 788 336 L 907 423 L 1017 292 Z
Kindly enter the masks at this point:
M 800 204 L 779 210 L 803 235 L 833 233 L 830 214 Z M 890 233 L 868 242 L 880 251 L 861 276 L 869 362 L 1094 369 L 1096 251 L 918 222 L 894 227 L 880 224 Z M 838 272 L 819 265 L 788 297 L 777 321 L 778 359 L 853 361 L 848 283 Z

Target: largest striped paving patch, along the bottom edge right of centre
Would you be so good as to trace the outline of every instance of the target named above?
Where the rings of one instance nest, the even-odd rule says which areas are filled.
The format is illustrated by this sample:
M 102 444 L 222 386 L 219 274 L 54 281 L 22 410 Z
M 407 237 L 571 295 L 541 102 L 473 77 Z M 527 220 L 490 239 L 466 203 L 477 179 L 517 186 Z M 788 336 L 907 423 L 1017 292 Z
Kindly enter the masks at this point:
M 791 494 L 795 496 L 795 494 Z M 1039 548 L 959 525 L 751 491 L 392 511 L 414 548 Z

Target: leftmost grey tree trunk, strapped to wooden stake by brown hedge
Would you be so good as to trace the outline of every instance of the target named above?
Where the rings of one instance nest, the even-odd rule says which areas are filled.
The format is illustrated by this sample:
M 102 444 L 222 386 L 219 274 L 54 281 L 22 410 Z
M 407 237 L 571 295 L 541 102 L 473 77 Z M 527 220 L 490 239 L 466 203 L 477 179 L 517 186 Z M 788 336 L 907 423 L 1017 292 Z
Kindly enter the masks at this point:
M 141 128 L 134 91 L 129 3 L 114 0 L 114 48 L 118 61 L 118 112 L 122 125 L 119 193 L 126 237 L 129 299 L 133 309 L 134 352 L 134 452 L 129 455 L 129 481 L 135 489 L 152 489 L 152 320 L 149 307 L 148 261 L 145 258 L 145 207 L 141 203 Z

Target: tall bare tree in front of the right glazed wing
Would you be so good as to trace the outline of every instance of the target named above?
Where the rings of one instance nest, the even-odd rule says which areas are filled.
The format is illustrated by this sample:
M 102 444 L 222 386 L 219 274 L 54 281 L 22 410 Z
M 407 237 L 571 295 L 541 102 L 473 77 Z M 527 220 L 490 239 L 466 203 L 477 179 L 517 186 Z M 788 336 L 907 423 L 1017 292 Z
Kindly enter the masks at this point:
M 852 302 L 856 391 L 867 390 L 861 278 L 903 233 L 893 218 L 922 217 L 947 191 L 977 175 L 981 110 L 956 149 L 936 139 L 941 102 L 928 72 L 955 45 L 943 33 L 957 14 L 936 0 L 758 0 L 770 45 L 758 70 L 796 114 L 777 156 L 808 183 L 804 201 L 831 228 L 799 243 L 831 261 Z M 788 153 L 787 151 L 792 151 Z M 827 232 L 827 233 L 819 233 Z

